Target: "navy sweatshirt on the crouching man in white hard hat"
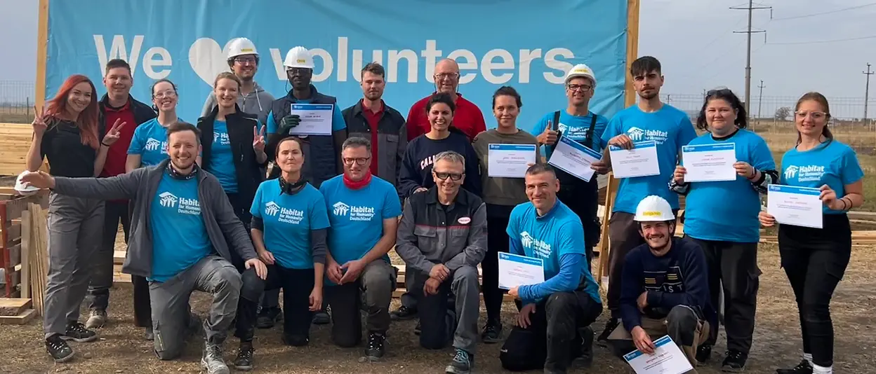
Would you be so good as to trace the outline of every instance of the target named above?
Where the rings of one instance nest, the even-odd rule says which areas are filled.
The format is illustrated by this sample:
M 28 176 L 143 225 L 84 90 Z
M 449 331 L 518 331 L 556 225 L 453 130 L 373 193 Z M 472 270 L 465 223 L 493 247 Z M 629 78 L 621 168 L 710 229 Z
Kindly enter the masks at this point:
M 654 256 L 647 244 L 637 246 L 624 260 L 620 289 L 620 318 L 624 328 L 641 325 L 636 301 L 647 291 L 645 315 L 663 319 L 677 305 L 693 308 L 701 318 L 708 316 L 709 278 L 703 250 L 690 239 L 673 238 L 662 257 Z

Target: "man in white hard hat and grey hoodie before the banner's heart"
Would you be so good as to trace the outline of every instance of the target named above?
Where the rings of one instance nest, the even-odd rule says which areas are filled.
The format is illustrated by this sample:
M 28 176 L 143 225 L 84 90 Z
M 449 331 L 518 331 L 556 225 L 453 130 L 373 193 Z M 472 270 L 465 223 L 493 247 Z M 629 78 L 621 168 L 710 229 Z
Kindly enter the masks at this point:
M 254 80 L 258 73 L 258 51 L 256 45 L 248 38 L 236 38 L 228 46 L 228 66 L 231 72 L 240 78 L 240 95 L 237 96 L 237 106 L 244 113 L 258 115 L 258 121 L 266 123 L 268 111 L 271 109 L 273 96 Z M 201 117 L 206 117 L 217 105 L 213 91 L 207 96 L 207 102 L 201 110 Z

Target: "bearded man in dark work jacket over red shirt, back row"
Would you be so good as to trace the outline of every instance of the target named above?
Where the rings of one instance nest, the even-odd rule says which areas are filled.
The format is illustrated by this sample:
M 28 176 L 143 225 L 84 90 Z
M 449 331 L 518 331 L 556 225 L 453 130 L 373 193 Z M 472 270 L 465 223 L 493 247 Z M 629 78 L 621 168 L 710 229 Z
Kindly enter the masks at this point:
M 352 107 L 343 109 L 350 137 L 361 136 L 371 140 L 371 174 L 389 182 L 398 189 L 401 159 L 407 148 L 405 117 L 386 105 L 383 96 L 385 70 L 376 62 L 362 68 L 364 97 Z

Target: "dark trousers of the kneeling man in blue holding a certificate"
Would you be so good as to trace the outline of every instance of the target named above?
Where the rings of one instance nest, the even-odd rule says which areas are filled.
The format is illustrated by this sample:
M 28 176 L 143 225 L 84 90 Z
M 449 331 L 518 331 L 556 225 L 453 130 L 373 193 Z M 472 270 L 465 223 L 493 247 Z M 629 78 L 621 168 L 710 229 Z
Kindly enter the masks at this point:
M 523 306 L 517 301 L 518 309 Z M 584 291 L 557 292 L 535 305 L 526 329 L 514 326 L 505 339 L 499 360 L 508 371 L 541 368 L 566 372 L 582 353 L 580 329 L 602 314 L 602 303 Z M 591 333 L 592 334 L 592 333 Z

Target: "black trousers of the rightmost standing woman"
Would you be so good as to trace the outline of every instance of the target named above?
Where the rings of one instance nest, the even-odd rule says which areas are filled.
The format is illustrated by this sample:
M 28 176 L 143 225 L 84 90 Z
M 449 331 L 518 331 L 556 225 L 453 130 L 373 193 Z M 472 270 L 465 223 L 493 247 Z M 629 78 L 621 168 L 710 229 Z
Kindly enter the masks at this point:
M 812 363 L 833 365 L 830 298 L 851 257 L 851 226 L 845 214 L 825 214 L 823 229 L 779 225 L 781 267 L 800 312 L 803 353 Z

